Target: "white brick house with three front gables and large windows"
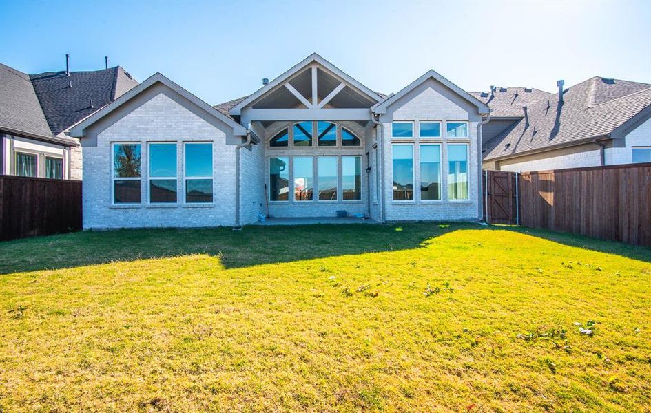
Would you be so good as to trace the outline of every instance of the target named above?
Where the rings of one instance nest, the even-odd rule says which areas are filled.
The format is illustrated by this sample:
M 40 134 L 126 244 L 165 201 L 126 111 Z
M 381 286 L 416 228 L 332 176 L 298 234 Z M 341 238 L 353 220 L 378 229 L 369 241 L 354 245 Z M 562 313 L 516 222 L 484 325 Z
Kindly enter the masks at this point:
M 318 54 L 211 107 L 161 74 L 70 128 L 85 229 L 482 215 L 488 106 L 433 70 L 385 96 Z

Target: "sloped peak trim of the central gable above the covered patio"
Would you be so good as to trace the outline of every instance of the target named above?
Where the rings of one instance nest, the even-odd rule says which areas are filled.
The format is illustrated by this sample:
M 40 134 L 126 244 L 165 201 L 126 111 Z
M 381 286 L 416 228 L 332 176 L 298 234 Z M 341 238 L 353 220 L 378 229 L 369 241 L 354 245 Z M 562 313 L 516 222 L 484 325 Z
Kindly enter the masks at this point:
M 365 94 L 367 97 L 369 97 L 371 100 L 378 102 L 382 100 L 381 96 L 378 96 L 377 93 L 373 92 L 371 89 L 368 87 L 362 85 L 362 83 L 356 81 L 354 78 L 349 76 L 348 74 L 342 72 L 338 67 L 327 61 L 326 59 L 323 59 L 319 54 L 313 53 L 307 56 L 305 59 L 297 63 L 296 65 L 293 65 L 291 69 L 287 70 L 287 72 L 281 74 L 277 78 L 273 79 L 273 81 L 267 83 L 267 85 L 260 87 L 260 89 L 256 90 L 253 94 L 247 96 L 246 98 L 240 100 L 236 105 L 231 107 L 229 109 L 229 114 L 231 116 L 238 116 L 240 115 L 240 111 L 242 108 L 246 107 L 247 105 L 250 105 L 253 103 L 255 100 L 258 100 L 261 96 L 265 95 L 267 92 L 271 91 L 278 85 L 282 85 L 283 82 L 287 81 L 288 78 L 293 76 L 294 74 L 297 74 L 300 72 L 302 69 L 310 65 L 311 63 L 318 63 L 322 67 L 325 67 L 327 70 L 335 74 L 335 76 L 338 76 L 341 78 L 344 82 L 348 83 L 352 87 L 355 87 L 355 89 L 358 89 L 360 92 Z

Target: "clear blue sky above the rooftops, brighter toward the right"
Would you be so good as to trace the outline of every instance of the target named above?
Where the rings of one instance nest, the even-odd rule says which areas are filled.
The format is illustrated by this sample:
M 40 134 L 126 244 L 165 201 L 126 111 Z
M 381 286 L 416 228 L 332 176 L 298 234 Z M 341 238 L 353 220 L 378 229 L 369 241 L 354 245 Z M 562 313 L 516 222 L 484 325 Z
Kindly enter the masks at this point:
M 432 68 L 466 90 L 651 83 L 651 1 L 38 2 L 0 0 L 0 63 L 28 73 L 161 72 L 215 104 L 318 52 L 397 92 Z

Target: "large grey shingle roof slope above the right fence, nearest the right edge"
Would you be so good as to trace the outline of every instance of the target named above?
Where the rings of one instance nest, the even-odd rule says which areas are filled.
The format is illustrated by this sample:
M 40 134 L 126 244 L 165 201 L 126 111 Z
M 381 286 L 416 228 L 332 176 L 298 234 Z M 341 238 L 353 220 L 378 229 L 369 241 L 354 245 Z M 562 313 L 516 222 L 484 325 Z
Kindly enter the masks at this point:
M 528 108 L 526 118 L 484 144 L 484 160 L 610 138 L 651 105 L 651 85 L 595 76 Z

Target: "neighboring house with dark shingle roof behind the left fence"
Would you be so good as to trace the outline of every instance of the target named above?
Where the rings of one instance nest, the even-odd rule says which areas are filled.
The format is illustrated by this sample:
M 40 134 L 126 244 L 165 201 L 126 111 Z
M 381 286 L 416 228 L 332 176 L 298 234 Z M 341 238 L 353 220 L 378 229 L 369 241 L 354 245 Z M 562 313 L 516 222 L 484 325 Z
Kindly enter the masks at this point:
M 29 75 L 0 64 L 0 173 L 81 179 L 68 127 L 137 84 L 122 67 Z

